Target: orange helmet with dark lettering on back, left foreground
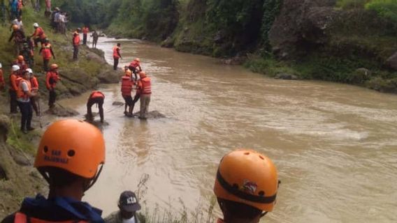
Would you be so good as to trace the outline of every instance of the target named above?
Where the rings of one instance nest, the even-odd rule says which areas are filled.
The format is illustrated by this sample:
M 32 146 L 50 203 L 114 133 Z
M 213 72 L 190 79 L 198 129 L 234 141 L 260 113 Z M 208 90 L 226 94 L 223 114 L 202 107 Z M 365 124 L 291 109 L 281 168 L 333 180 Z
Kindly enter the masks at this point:
M 38 146 L 34 167 L 57 167 L 94 178 L 105 163 L 105 141 L 94 125 L 73 119 L 52 123 Z

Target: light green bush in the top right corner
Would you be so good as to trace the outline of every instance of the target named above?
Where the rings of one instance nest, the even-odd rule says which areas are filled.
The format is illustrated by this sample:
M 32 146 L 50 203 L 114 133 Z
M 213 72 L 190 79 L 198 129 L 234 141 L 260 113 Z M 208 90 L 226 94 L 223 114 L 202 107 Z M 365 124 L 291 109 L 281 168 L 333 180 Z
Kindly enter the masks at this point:
M 397 1 L 396 0 L 372 0 L 366 3 L 367 10 L 374 10 L 377 15 L 391 22 L 397 22 Z

